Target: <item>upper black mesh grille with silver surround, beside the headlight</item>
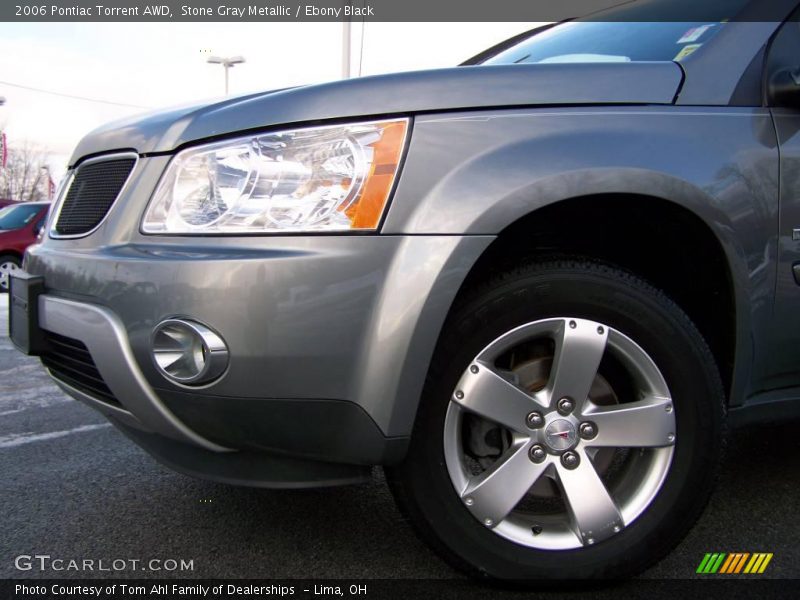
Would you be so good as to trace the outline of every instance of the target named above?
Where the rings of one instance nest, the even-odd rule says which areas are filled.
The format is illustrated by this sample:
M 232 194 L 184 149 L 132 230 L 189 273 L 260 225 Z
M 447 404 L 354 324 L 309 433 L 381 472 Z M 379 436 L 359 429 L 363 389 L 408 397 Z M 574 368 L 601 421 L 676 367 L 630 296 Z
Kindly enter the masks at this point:
M 78 167 L 61 205 L 56 233 L 80 235 L 97 227 L 119 196 L 134 164 L 135 158 L 119 158 Z

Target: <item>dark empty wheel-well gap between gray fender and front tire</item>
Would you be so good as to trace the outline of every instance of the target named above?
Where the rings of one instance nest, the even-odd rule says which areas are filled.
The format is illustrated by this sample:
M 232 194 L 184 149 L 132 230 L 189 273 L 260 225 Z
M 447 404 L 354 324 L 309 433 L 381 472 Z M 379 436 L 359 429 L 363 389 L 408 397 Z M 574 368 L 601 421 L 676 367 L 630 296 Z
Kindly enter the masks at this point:
M 565 198 L 504 227 L 472 265 L 453 306 L 492 272 L 519 260 L 554 254 L 606 260 L 647 279 L 687 312 L 711 347 L 729 402 L 738 404 L 752 359 L 746 270 L 738 247 L 720 230 L 730 231 L 719 215 L 709 223 L 657 195 Z

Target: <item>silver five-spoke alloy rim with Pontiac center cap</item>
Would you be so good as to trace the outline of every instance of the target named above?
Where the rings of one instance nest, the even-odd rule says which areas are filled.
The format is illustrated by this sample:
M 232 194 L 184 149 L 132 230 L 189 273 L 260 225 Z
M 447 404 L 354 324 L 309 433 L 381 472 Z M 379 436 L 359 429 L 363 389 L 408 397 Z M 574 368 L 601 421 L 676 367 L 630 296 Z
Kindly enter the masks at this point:
M 546 383 L 531 391 L 498 361 L 536 340 L 551 344 L 552 362 Z M 593 384 L 612 360 L 629 385 L 618 402 L 599 405 Z M 477 472 L 465 439 L 467 415 L 505 440 Z M 455 491 L 480 523 L 525 546 L 564 550 L 608 539 L 644 512 L 664 483 L 675 436 L 669 389 L 648 354 L 605 324 L 566 317 L 522 325 L 475 357 L 451 396 L 444 451 Z M 542 478 L 558 490 L 555 508 L 529 501 Z

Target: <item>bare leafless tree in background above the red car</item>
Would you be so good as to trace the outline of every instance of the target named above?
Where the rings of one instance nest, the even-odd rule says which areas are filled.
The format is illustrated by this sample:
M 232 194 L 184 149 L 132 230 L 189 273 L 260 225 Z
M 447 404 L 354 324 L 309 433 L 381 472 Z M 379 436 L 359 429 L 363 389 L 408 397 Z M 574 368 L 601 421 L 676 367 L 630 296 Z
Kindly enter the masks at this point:
M 46 200 L 48 185 L 45 149 L 30 142 L 9 145 L 6 167 L 0 168 L 0 198 L 18 202 Z

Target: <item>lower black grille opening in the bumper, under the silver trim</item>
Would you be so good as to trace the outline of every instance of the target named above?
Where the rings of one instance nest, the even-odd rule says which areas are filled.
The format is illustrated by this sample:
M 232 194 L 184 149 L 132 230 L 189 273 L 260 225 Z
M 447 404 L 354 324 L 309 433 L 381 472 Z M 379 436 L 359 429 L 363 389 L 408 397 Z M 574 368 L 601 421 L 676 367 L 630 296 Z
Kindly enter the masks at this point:
M 47 350 L 42 353 L 42 364 L 53 376 L 92 398 L 120 406 L 82 342 L 50 331 L 44 334 Z

